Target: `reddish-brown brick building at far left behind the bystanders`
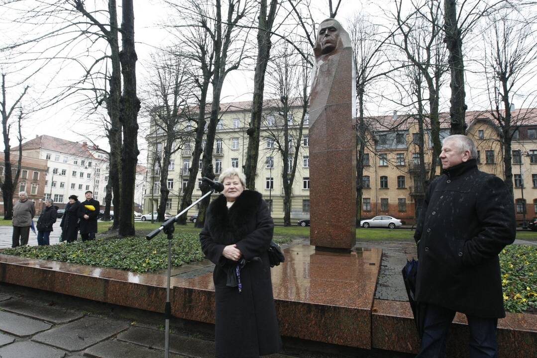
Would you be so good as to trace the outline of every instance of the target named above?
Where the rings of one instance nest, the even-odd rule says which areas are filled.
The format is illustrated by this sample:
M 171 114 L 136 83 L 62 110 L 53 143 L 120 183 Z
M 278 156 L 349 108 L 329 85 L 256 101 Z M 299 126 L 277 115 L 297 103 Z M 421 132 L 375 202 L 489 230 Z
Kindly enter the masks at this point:
M 13 174 L 16 171 L 18 155 L 11 154 L 10 162 Z M 28 193 L 28 199 L 35 204 L 35 211 L 40 213 L 43 208 L 45 193 L 45 177 L 47 174 L 47 161 L 42 159 L 22 157 L 20 163 L 20 176 L 18 182 L 14 185 L 13 200 L 18 200 L 19 192 Z M 4 180 L 4 154 L 0 154 L 0 177 Z M 3 198 L 0 197 L 0 213 L 4 213 Z

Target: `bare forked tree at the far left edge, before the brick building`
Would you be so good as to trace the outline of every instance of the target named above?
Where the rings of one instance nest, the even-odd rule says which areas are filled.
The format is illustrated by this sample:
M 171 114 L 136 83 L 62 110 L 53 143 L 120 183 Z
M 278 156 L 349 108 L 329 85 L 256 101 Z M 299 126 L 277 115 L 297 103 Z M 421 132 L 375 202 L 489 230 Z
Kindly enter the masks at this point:
M 23 158 L 23 136 L 21 135 L 21 119 L 23 118 L 23 110 L 20 108 L 20 101 L 23 99 L 24 95 L 28 91 L 28 86 L 24 87 L 23 92 L 20 96 L 9 106 L 7 102 L 7 89 L 5 74 L 2 74 L 2 101 L 0 101 L 0 113 L 2 113 L 2 135 L 4 139 L 4 180 L 0 177 L 0 189 L 2 189 L 2 197 L 4 200 L 4 219 L 11 220 L 13 218 L 13 192 L 15 190 L 15 185 L 19 181 L 20 176 L 20 165 Z M 11 167 L 11 147 L 10 134 L 13 123 L 10 123 L 11 115 L 13 111 L 19 108 L 19 114 L 17 116 L 17 126 L 16 130 L 18 132 L 18 142 L 19 142 L 19 158 L 17 166 L 15 168 L 15 175 L 13 176 L 13 168 Z

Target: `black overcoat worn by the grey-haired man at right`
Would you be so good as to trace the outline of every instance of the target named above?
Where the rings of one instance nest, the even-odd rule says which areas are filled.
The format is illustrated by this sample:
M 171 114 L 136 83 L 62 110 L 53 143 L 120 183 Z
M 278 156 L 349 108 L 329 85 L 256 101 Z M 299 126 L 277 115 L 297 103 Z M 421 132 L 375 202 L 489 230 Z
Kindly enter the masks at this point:
M 482 318 L 505 317 L 498 254 L 516 236 L 513 199 L 475 159 L 431 182 L 414 238 L 416 301 Z

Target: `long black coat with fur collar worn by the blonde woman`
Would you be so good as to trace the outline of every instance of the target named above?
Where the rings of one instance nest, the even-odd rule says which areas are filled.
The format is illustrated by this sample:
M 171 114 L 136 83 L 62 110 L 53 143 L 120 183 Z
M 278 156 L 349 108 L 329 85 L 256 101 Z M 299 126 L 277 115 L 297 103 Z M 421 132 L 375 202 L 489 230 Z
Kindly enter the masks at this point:
M 223 195 L 207 209 L 200 240 L 203 252 L 216 265 L 217 358 L 258 357 L 281 347 L 267 255 L 273 229 L 269 207 L 255 191 L 243 191 L 229 211 Z M 224 258 L 222 251 L 235 243 L 246 260 L 253 260 L 242 268 L 242 293 L 226 286 L 227 272 L 236 263 Z

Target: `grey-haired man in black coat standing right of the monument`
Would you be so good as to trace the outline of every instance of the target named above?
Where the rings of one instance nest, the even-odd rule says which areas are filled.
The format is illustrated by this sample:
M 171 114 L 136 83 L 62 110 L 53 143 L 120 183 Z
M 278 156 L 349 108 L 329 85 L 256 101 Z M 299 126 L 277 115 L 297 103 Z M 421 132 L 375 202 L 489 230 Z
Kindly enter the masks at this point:
M 417 357 L 445 357 L 455 312 L 468 318 L 470 357 L 497 357 L 496 325 L 505 317 L 498 254 L 516 236 L 513 198 L 500 178 L 477 170 L 464 135 L 445 138 L 444 172 L 431 182 L 414 238 L 416 301 L 427 304 Z

